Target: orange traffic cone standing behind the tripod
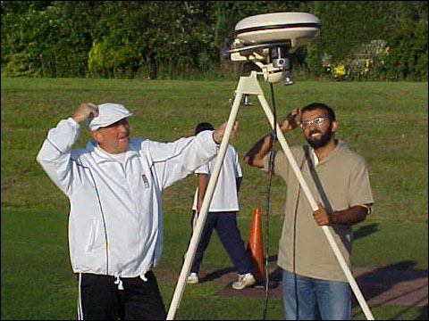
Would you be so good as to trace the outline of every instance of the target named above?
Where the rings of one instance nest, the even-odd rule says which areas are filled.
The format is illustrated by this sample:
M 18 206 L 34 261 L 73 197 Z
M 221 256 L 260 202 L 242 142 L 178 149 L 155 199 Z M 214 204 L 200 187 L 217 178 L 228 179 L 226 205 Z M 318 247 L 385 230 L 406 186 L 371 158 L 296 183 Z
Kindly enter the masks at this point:
M 253 211 L 252 224 L 248 233 L 248 257 L 255 268 L 254 276 L 257 278 L 257 281 L 265 281 L 261 209 L 259 207 L 256 207 Z

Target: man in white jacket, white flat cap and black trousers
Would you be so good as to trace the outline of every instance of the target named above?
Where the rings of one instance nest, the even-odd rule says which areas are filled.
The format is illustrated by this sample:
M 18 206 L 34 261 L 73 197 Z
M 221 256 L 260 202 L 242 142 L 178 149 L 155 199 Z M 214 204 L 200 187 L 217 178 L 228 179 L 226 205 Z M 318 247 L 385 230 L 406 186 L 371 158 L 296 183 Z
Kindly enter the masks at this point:
M 81 103 L 49 130 L 38 152 L 38 162 L 71 203 L 69 248 L 79 277 L 79 319 L 166 317 L 151 272 L 163 247 L 161 192 L 211 161 L 226 127 L 158 143 L 130 138 L 131 115 L 118 103 Z M 92 139 L 85 148 L 71 149 L 81 121 Z

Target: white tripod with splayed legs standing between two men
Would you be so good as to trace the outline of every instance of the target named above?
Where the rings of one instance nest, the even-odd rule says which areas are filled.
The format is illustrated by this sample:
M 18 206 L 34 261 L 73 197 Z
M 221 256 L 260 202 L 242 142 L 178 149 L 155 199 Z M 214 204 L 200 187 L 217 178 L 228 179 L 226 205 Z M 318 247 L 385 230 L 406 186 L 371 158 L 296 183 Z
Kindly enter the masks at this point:
M 239 111 L 239 107 L 240 107 L 240 103 L 243 95 L 257 95 L 257 99 L 259 100 L 259 103 L 261 103 L 261 106 L 265 111 L 266 118 L 270 122 L 271 127 L 274 128 L 273 112 L 271 111 L 269 104 L 266 102 L 264 92 L 257 81 L 257 71 L 252 71 L 250 76 L 248 77 L 240 77 L 239 85 L 237 86 L 237 90 L 236 90 L 234 103 L 232 104 L 230 117 L 228 119 L 228 123 L 225 128 L 225 133 L 223 135 L 221 147 L 218 152 L 217 159 L 214 165 L 213 174 L 211 175 L 207 185 L 206 195 L 204 197 L 202 208 L 197 220 L 197 226 L 195 227 L 195 231 L 190 239 L 189 249 L 186 253 L 185 261 L 183 263 L 183 267 L 181 268 L 181 275 L 179 276 L 179 280 L 172 297 L 172 303 L 168 311 L 167 320 L 172 320 L 175 316 L 176 310 L 179 309 L 181 297 L 184 292 L 185 280 L 186 280 L 186 277 L 189 275 L 190 266 L 194 259 L 195 252 L 197 251 L 199 238 L 202 233 L 203 226 L 206 222 L 207 211 L 210 206 L 210 202 L 212 201 L 214 187 L 216 186 L 217 178 L 219 177 L 219 173 L 223 165 L 223 159 L 225 156 L 226 148 L 230 140 L 231 130 L 235 122 L 235 119 L 237 117 L 237 112 Z M 288 161 L 290 161 L 290 166 L 292 167 L 295 175 L 298 177 L 299 184 L 301 185 L 304 193 L 306 194 L 308 202 L 310 203 L 313 210 L 318 210 L 318 206 L 315 202 L 315 199 L 311 194 L 304 177 L 301 174 L 301 171 L 299 169 L 297 162 L 295 161 L 295 159 L 293 158 L 290 152 L 289 145 L 287 144 L 286 139 L 282 134 L 282 130 L 280 129 L 278 124 L 275 124 L 275 126 L 276 126 L 276 132 L 277 132 L 279 142 L 282 146 L 282 150 L 286 154 Z M 338 248 L 337 243 L 335 243 L 335 240 L 333 239 L 331 229 L 328 226 L 322 226 L 322 228 L 324 231 L 324 235 L 326 236 L 329 244 L 331 245 L 331 248 L 335 254 L 335 257 L 337 258 L 345 276 L 347 277 L 350 287 L 353 290 L 356 296 L 356 299 L 360 304 L 361 309 L 364 311 L 366 319 L 374 320 L 371 310 L 368 308 L 366 304 L 366 300 L 364 299 L 362 292 L 360 292 L 359 287 L 357 286 L 355 278 L 351 274 L 348 265 L 346 264 L 344 258 L 341 255 L 341 251 Z

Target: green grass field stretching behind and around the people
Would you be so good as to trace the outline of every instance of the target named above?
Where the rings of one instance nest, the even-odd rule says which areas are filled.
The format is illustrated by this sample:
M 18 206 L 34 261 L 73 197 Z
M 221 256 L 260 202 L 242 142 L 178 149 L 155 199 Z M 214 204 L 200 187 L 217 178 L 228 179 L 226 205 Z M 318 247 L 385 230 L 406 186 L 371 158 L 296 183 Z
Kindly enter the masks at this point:
M 218 126 L 230 112 L 236 82 L 139 81 L 113 79 L 2 78 L 2 319 L 73 319 L 77 282 L 71 272 L 68 244 L 68 201 L 39 168 L 36 155 L 46 132 L 67 118 L 81 102 L 123 103 L 133 136 L 172 141 L 192 135 L 198 122 Z M 268 101 L 269 88 L 263 84 Z M 355 226 L 353 263 L 358 267 L 402 267 L 427 270 L 427 83 L 317 82 L 274 86 L 277 112 L 323 102 L 339 120 L 338 135 L 362 154 L 370 171 L 374 214 Z M 238 136 L 231 141 L 240 156 L 268 123 L 256 100 L 241 107 Z M 299 131 L 286 136 L 301 144 Z M 88 139 L 83 129 L 76 146 Z M 255 206 L 264 209 L 266 177 L 242 165 L 239 224 L 247 239 Z M 196 186 L 187 177 L 164 192 L 164 254 L 156 276 L 167 309 L 181 271 L 189 235 L 189 212 Z M 277 251 L 282 227 L 284 185 L 274 178 L 271 193 L 269 255 Z M 275 268 L 275 261 L 272 262 Z M 214 236 L 202 268 L 231 268 Z M 213 295 L 225 284 L 187 286 L 178 319 L 258 319 L 263 298 Z M 372 306 L 376 319 L 427 319 L 425 308 Z M 360 308 L 355 319 L 365 319 Z M 270 298 L 268 319 L 282 319 L 282 302 Z

